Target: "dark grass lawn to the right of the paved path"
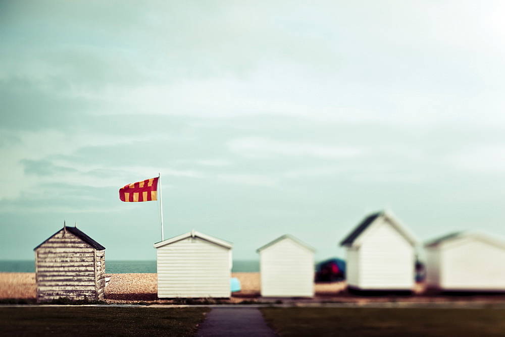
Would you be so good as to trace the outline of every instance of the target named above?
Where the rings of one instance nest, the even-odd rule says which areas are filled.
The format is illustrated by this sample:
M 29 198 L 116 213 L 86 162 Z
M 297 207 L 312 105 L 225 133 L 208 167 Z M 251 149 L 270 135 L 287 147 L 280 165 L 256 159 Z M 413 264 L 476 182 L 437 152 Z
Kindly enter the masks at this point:
M 503 309 L 262 308 L 281 336 L 505 336 Z

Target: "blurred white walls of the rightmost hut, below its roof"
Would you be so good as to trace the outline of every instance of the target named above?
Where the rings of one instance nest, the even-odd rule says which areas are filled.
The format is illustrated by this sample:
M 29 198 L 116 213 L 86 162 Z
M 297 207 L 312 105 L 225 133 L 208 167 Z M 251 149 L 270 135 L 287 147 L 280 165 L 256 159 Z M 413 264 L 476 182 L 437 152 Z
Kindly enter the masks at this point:
M 438 258 L 428 260 L 427 276 L 435 280 L 435 275 L 440 275 L 433 284 L 440 290 L 505 291 L 503 247 L 467 237 L 429 250 L 436 251 Z

